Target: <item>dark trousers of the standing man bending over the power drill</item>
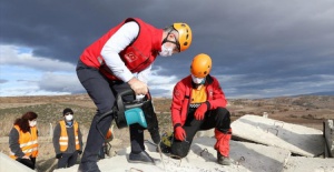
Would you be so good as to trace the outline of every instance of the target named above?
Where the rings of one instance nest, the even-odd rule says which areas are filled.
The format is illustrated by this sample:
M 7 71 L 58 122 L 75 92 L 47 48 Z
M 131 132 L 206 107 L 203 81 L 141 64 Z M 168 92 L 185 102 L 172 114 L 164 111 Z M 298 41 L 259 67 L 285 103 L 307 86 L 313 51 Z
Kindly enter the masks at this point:
M 87 93 L 98 108 L 97 113 L 91 121 L 81 163 L 96 162 L 98 160 L 98 153 L 105 141 L 102 135 L 107 134 L 114 117 L 107 115 L 99 122 L 98 120 L 101 114 L 111 111 L 112 107 L 115 105 L 117 93 L 128 90 L 130 87 L 128 83 L 121 81 L 108 80 L 97 69 L 89 68 L 81 61 L 79 61 L 77 65 L 77 75 Z M 130 99 L 134 100 L 134 97 L 126 99 L 128 101 Z M 130 125 L 130 141 L 132 152 L 136 153 L 145 150 L 144 130 L 139 124 Z

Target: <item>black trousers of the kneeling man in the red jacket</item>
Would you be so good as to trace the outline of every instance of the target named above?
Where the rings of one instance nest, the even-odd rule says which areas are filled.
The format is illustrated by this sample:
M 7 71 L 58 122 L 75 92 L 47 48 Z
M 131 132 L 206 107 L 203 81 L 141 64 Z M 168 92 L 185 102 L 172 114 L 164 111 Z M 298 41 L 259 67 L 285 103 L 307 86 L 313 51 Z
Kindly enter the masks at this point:
M 186 140 L 179 141 L 174 138 L 171 154 L 177 155 L 178 158 L 185 158 L 188 154 L 197 131 L 215 128 L 220 132 L 226 133 L 230 128 L 230 114 L 225 108 L 207 111 L 204 120 L 196 120 L 194 118 L 195 110 L 196 109 L 189 110 L 186 123 L 183 127 L 186 132 Z

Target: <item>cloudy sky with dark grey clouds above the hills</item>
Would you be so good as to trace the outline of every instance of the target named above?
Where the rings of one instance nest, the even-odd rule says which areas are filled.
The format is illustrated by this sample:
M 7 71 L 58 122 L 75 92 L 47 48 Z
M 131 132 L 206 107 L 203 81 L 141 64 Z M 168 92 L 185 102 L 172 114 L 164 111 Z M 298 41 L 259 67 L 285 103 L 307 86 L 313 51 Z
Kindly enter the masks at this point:
M 82 50 L 128 17 L 165 28 L 186 22 L 191 47 L 159 57 L 149 88 L 170 97 L 197 53 L 213 59 L 229 99 L 334 88 L 334 1 L 305 0 L 3 0 L 0 97 L 85 93 L 75 68 Z

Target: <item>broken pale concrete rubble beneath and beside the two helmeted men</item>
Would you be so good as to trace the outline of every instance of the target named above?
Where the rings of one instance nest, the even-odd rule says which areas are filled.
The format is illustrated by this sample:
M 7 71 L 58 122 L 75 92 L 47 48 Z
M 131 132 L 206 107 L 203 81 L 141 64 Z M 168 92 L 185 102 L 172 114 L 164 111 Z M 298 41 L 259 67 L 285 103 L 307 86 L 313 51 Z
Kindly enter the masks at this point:
M 130 148 L 119 150 L 115 156 L 98 162 L 101 171 L 165 171 L 165 172 L 199 172 L 199 171 L 229 171 L 229 172 L 305 172 L 334 171 L 334 159 L 315 158 L 324 153 L 323 132 L 296 124 L 285 123 L 263 117 L 245 115 L 232 123 L 233 138 L 243 141 L 230 141 L 230 166 L 216 163 L 214 131 L 199 132 L 194 139 L 189 154 L 175 160 L 163 154 L 163 163 L 148 165 L 129 163 L 127 161 Z M 263 134 L 263 135 L 261 135 Z M 245 140 L 250 141 L 244 142 Z M 318 143 L 320 142 L 320 143 Z M 146 151 L 155 159 L 160 159 L 156 146 L 145 142 Z M 317 148 L 320 146 L 320 148 Z M 312 150 L 314 149 L 314 150 Z M 13 169 L 17 165 L 7 156 L 3 161 L 0 155 L 0 168 Z M 9 159 L 9 160 L 8 160 Z M 2 163 L 11 161 L 11 163 Z M 19 164 L 21 165 L 21 164 Z M 30 169 L 18 171 L 29 171 Z M 0 169 L 0 171 L 2 170 Z M 69 169 L 58 169 L 55 172 L 77 171 L 78 165 Z M 16 170 L 17 171 L 17 170 Z M 31 170 L 30 170 L 31 171 Z

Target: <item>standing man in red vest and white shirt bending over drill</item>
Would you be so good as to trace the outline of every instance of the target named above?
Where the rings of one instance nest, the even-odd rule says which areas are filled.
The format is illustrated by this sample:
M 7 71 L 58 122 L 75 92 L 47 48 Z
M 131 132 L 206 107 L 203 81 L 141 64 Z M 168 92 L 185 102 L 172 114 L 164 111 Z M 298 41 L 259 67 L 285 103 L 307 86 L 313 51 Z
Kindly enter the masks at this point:
M 79 171 L 100 171 L 97 159 L 104 143 L 101 135 L 106 135 L 112 115 L 99 119 L 112 110 L 117 93 L 130 88 L 136 95 L 147 94 L 148 75 L 157 55 L 169 57 L 185 51 L 190 43 L 191 30 L 186 23 L 157 29 L 140 19 L 129 18 L 84 50 L 77 75 L 98 111 L 91 122 Z M 145 151 L 144 129 L 139 124 L 129 128 L 129 161 L 154 163 Z

